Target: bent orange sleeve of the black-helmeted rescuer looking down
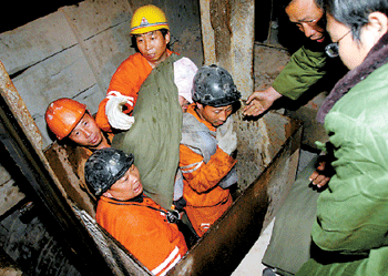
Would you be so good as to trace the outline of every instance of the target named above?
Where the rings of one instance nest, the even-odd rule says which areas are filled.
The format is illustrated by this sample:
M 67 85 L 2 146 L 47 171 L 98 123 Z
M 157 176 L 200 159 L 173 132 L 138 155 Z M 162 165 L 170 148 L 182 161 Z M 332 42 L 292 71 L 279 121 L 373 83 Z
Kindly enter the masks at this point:
M 183 144 L 180 145 L 180 167 L 188 185 L 197 193 L 204 193 L 216 186 L 236 162 L 217 147 L 211 160 L 205 163 L 202 155 Z

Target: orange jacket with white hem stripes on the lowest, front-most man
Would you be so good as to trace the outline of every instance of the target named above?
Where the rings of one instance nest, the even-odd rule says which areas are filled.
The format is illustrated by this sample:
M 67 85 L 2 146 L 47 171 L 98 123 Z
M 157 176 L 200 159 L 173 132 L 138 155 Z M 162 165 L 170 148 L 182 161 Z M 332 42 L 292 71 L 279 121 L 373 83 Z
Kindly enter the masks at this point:
M 154 275 L 162 275 L 180 262 L 187 246 L 161 209 L 165 211 L 146 196 L 143 202 L 101 196 L 95 218 Z

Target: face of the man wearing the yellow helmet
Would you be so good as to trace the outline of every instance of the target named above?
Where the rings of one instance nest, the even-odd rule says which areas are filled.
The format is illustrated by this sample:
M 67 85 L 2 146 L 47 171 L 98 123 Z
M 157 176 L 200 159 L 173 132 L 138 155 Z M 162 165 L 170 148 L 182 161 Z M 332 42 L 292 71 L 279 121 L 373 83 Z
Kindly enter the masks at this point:
M 170 32 L 165 37 L 159 30 L 136 34 L 137 49 L 153 68 L 167 58 L 169 42 Z

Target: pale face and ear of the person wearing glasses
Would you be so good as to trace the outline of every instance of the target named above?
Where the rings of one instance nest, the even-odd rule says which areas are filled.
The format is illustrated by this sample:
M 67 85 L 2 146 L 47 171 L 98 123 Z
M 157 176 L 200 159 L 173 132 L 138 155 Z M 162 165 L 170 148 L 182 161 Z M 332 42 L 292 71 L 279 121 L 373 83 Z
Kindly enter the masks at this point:
M 327 31 L 333 42 L 338 43 L 339 58 L 349 69 L 355 69 L 363 63 L 374 43 L 368 39 L 368 30 L 361 29 L 360 41 L 353 38 L 350 28 L 327 14 Z

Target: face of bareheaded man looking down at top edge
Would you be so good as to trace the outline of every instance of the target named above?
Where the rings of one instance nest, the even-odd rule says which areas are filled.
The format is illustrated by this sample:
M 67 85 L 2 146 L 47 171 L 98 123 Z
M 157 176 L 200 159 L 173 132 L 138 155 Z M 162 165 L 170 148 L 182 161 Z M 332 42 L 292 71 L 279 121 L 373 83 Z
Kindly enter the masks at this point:
M 315 0 L 294 0 L 286 7 L 286 13 L 306 38 L 317 42 L 325 40 L 325 29 L 320 25 L 324 10 L 317 7 Z

